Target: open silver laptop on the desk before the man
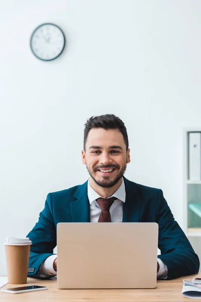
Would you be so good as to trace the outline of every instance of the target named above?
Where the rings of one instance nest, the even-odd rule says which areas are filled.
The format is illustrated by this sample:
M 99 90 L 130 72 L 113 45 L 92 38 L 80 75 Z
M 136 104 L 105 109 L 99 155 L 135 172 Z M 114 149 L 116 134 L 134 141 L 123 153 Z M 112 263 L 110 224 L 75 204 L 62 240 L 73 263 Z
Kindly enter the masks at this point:
M 57 224 L 58 288 L 155 288 L 158 224 Z

